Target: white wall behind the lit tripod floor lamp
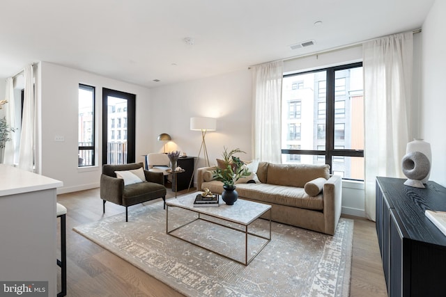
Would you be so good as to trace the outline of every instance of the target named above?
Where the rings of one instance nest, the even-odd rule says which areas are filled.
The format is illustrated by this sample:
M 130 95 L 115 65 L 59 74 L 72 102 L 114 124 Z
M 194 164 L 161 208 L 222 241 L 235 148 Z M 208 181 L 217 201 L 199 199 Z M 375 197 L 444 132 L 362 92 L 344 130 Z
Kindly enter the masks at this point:
M 176 83 L 151 89 L 151 147 L 148 152 L 162 152 L 162 142 L 156 141 L 167 133 L 172 141 L 166 151 L 180 150 L 197 156 L 201 132 L 190 130 L 191 117 L 217 118 L 217 131 L 208 131 L 206 147 L 210 166 L 220 158 L 223 147 L 240 148 L 252 158 L 251 147 L 252 82 L 249 70 L 240 70 L 215 77 Z M 203 152 L 197 167 L 203 167 Z

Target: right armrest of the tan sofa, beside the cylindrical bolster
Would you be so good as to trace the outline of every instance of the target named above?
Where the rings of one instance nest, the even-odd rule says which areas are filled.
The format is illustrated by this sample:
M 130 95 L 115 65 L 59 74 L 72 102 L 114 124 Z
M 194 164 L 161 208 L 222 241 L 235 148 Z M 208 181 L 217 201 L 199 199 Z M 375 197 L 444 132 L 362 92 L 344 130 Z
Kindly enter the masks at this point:
M 339 175 L 332 175 L 323 186 L 323 215 L 326 234 L 334 234 L 341 217 L 341 208 L 342 178 Z

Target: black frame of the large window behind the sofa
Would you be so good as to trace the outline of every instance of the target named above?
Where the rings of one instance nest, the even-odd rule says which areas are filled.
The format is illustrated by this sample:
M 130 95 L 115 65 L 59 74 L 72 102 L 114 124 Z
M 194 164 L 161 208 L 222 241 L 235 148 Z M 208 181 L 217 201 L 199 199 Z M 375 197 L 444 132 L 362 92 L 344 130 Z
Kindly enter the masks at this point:
M 316 155 L 316 156 L 325 156 L 325 163 L 330 166 L 330 172 L 332 173 L 333 164 L 332 159 L 333 156 L 351 156 L 351 157 L 362 157 L 364 158 L 364 150 L 339 150 L 334 148 L 334 93 L 335 93 L 335 79 L 334 74 L 339 70 L 347 70 L 351 68 L 362 67 L 362 62 L 351 63 L 346 65 L 339 65 L 334 67 L 326 67 L 317 70 L 310 70 L 306 72 L 298 72 L 293 74 L 284 74 L 285 77 L 293 77 L 295 75 L 308 74 L 313 72 L 323 72 L 326 73 L 325 80 L 325 103 L 327 104 L 326 113 L 325 113 L 325 150 L 291 150 L 291 149 L 282 149 L 282 154 L 308 154 L 308 155 Z M 321 81 L 318 81 L 321 83 Z M 319 95 L 319 93 L 318 93 Z M 318 96 L 319 97 L 319 96 Z M 346 179 L 343 177 L 343 179 Z M 360 180 L 360 179 L 348 179 L 348 180 Z M 361 179 L 362 180 L 362 179 Z

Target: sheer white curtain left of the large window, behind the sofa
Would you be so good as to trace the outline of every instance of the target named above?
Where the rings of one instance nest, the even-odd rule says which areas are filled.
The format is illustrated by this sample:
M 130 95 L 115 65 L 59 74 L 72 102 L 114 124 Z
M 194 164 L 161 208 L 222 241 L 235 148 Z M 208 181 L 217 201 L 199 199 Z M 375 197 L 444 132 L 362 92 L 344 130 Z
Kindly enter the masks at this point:
M 254 159 L 282 163 L 281 95 L 282 61 L 254 66 L 252 69 Z

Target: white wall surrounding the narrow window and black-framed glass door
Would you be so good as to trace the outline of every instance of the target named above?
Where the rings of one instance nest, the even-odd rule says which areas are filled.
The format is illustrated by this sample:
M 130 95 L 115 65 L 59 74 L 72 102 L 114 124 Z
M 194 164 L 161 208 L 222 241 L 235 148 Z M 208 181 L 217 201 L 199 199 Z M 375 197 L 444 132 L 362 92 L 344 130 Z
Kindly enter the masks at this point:
M 150 90 L 130 83 L 100 77 L 96 74 L 74 70 L 52 63 L 40 63 L 42 95 L 42 150 L 41 174 L 63 182 L 58 193 L 79 191 L 99 186 L 101 166 L 77 168 L 77 119 L 79 83 L 95 87 L 96 127 L 102 121 L 102 88 L 120 90 L 137 95 L 136 156 L 143 161 L 150 147 L 151 120 Z M 102 131 L 96 135 L 97 164 L 102 163 Z M 56 142 L 54 136 L 63 136 L 65 141 Z

